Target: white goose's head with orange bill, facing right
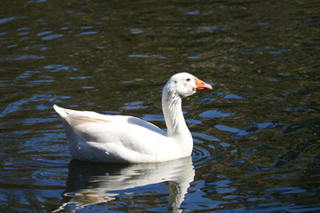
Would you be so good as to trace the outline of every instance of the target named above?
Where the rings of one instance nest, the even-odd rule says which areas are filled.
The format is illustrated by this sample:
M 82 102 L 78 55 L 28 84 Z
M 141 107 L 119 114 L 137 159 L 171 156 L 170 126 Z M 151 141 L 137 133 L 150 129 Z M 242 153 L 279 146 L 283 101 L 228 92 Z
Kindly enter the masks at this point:
M 212 86 L 204 83 L 194 75 L 179 73 L 172 75 L 164 88 L 167 89 L 169 96 L 178 95 L 180 98 L 183 98 L 193 95 L 196 91 L 212 89 Z

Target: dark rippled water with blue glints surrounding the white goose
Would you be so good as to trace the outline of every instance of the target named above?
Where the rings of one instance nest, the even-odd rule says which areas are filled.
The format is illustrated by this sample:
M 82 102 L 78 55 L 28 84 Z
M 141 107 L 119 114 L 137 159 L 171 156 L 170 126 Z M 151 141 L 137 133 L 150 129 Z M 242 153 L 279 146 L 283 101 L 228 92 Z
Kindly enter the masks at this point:
M 0 211 L 320 211 L 319 1 L 3 0 Z M 72 161 L 52 103 L 164 128 L 174 73 L 192 158 Z

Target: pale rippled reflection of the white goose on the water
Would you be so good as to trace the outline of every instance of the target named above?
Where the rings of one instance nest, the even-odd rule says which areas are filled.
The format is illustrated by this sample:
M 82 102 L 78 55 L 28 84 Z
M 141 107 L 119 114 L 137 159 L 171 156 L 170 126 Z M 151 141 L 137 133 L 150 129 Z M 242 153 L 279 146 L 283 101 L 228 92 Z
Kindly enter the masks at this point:
M 168 210 L 181 212 L 180 205 L 194 180 L 191 157 L 171 162 L 116 164 L 72 160 L 68 165 L 68 181 L 59 209 L 83 209 L 87 205 L 115 200 L 126 189 L 167 183 Z M 150 191 L 148 189 L 148 191 Z M 131 190 L 132 192 L 132 190 Z M 128 196 L 127 193 L 123 193 Z

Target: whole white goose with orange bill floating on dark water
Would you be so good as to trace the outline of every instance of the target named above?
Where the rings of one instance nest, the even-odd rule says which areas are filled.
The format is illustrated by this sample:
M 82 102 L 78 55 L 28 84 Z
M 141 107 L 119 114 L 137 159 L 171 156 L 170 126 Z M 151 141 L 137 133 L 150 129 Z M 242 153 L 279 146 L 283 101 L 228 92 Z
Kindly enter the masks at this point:
M 181 98 L 212 89 L 188 73 L 173 75 L 164 86 L 162 107 L 167 132 L 140 118 L 64 109 L 54 105 L 74 158 L 89 162 L 166 162 L 187 157 L 193 139 Z

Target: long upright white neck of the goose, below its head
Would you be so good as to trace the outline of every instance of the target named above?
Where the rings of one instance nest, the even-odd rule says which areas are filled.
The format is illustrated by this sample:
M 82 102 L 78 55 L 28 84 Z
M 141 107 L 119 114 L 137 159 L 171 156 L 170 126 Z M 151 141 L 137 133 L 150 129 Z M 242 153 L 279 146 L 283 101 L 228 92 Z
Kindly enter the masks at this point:
M 168 136 L 181 136 L 183 139 L 192 141 L 191 133 L 183 117 L 180 95 L 174 89 L 171 81 L 164 86 L 162 107 Z

